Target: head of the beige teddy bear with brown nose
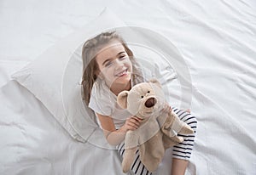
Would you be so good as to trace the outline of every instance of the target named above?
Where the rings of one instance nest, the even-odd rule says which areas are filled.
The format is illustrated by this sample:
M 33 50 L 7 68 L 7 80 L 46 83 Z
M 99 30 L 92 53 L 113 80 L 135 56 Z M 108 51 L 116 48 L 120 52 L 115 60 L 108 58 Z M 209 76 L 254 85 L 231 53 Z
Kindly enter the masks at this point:
M 160 82 L 153 79 L 135 85 L 130 91 L 122 91 L 118 95 L 117 102 L 133 116 L 146 118 L 159 111 L 164 100 L 165 95 Z

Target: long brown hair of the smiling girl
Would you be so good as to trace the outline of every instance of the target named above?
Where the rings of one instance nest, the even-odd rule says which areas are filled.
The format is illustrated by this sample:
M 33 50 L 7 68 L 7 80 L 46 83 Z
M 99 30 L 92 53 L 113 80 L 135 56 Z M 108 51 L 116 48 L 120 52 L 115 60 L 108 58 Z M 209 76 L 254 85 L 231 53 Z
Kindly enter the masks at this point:
M 83 59 L 83 77 L 82 77 L 82 86 L 84 90 L 84 100 L 85 104 L 90 102 L 90 93 L 91 88 L 93 87 L 94 82 L 96 82 L 97 72 L 99 71 L 98 65 L 96 63 L 96 54 L 109 42 L 117 40 L 122 43 L 125 48 L 125 52 L 129 55 L 132 63 L 133 75 L 139 77 L 139 82 L 143 82 L 143 74 L 140 69 L 140 66 L 134 59 L 133 53 L 130 48 L 126 45 L 122 37 L 120 37 L 115 31 L 102 32 L 101 34 L 93 37 L 86 42 L 84 42 L 82 50 L 82 59 Z M 133 76 L 133 78 L 135 78 Z

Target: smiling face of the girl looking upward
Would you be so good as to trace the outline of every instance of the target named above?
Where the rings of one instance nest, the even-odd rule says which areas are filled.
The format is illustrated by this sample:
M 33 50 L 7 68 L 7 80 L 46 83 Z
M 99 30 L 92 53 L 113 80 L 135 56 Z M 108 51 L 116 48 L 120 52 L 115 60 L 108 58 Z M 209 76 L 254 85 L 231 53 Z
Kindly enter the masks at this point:
M 104 78 L 108 86 L 126 86 L 130 83 L 132 64 L 125 48 L 119 41 L 109 42 L 96 55 L 98 76 Z

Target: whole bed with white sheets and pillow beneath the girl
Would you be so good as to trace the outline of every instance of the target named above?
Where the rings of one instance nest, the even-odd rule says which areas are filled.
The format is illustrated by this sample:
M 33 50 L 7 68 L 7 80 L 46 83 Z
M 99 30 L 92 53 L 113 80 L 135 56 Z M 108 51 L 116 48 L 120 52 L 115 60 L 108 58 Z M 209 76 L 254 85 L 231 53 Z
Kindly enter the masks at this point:
M 153 54 L 167 58 L 152 65 L 148 48 L 131 46 L 148 64 L 149 75 L 157 68 L 159 77 L 170 79 L 165 85 L 170 103 L 197 116 L 186 174 L 256 174 L 255 2 L 0 4 L 0 174 L 124 174 L 94 118 L 84 119 L 86 109 L 70 107 L 70 99 L 82 104 L 74 99 L 81 89 L 73 66 L 79 66 L 84 39 L 113 27 L 125 33 L 128 26 L 129 42 L 142 36 L 137 43 L 147 42 L 158 51 Z M 157 174 L 170 174 L 169 155 Z

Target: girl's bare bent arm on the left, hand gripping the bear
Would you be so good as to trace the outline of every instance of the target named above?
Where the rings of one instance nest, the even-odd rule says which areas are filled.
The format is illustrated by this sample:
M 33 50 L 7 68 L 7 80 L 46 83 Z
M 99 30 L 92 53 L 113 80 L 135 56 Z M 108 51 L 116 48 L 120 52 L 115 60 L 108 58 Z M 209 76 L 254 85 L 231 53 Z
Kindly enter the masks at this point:
M 116 129 L 111 116 L 102 116 L 96 114 L 104 132 L 104 135 L 108 141 L 108 144 L 117 145 L 125 139 L 125 133 L 128 130 L 136 130 L 140 126 L 140 120 L 136 116 L 131 116 L 126 119 L 125 124 Z

